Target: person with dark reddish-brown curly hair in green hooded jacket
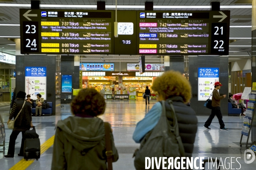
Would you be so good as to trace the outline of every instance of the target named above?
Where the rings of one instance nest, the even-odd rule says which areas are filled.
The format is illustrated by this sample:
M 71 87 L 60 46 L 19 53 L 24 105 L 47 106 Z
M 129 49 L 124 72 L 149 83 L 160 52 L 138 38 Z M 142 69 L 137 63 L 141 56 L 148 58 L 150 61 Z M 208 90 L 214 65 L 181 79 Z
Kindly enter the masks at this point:
M 58 121 L 52 155 L 52 170 L 107 170 L 105 127 L 97 116 L 105 112 L 105 99 L 86 88 L 71 102 L 74 116 Z M 118 153 L 111 136 L 112 161 Z

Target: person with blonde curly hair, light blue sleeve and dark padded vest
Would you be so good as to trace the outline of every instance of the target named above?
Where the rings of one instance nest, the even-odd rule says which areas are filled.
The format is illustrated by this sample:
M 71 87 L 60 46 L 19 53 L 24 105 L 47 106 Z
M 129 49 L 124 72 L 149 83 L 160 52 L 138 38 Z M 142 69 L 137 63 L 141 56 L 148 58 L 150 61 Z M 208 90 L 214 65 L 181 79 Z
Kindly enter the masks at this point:
M 194 148 L 198 120 L 195 111 L 186 105 L 191 98 L 191 86 L 189 81 L 178 71 L 167 71 L 154 80 L 151 89 L 158 94 L 160 101 L 172 100 L 185 156 L 190 158 Z M 166 116 L 169 123 L 172 125 L 172 109 L 169 102 L 165 102 L 165 107 Z M 133 134 L 133 139 L 136 143 L 140 143 L 144 136 L 154 129 L 161 114 L 162 104 L 161 102 L 157 102 L 153 105 L 151 110 L 148 111 L 144 119 L 137 123 Z M 146 141 L 146 139 L 143 141 Z

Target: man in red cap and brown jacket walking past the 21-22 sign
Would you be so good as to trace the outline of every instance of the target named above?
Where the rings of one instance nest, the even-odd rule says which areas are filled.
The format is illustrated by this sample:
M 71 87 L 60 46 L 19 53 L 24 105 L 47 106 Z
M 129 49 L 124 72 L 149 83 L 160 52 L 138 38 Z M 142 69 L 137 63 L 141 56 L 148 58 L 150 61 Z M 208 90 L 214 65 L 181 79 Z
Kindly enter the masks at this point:
M 207 121 L 204 123 L 204 128 L 210 130 L 209 126 L 212 123 L 212 119 L 216 115 L 220 124 L 220 130 L 228 130 L 225 127 L 225 124 L 222 120 L 222 114 L 221 114 L 221 99 L 224 99 L 227 95 L 220 96 L 218 90 L 221 89 L 221 83 L 215 82 L 214 83 L 214 90 L 212 91 L 212 113 L 207 119 Z

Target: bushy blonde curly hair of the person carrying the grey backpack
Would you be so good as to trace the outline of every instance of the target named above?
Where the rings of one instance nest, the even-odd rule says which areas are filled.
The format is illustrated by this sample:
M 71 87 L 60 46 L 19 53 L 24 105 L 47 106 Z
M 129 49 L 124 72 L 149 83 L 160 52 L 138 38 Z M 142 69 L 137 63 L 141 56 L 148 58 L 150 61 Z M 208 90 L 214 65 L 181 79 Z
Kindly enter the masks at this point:
M 186 103 L 191 98 L 191 85 L 179 71 L 166 71 L 162 76 L 154 79 L 151 89 L 163 99 L 180 96 Z

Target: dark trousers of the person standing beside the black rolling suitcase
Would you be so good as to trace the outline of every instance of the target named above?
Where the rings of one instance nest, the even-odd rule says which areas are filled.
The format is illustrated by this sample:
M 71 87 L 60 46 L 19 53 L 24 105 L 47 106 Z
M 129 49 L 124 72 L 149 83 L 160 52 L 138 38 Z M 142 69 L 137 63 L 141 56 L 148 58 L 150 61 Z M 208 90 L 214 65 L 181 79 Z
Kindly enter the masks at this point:
M 9 149 L 8 149 L 8 155 L 14 155 L 15 152 L 15 142 L 17 139 L 17 136 L 19 135 L 19 133 L 22 133 L 22 139 L 21 139 L 21 146 L 20 146 L 20 154 L 23 155 L 24 152 L 24 141 L 25 141 L 25 137 L 24 137 L 24 133 L 25 131 L 12 131 L 12 134 L 10 136 L 10 141 L 9 141 Z

